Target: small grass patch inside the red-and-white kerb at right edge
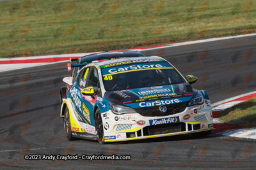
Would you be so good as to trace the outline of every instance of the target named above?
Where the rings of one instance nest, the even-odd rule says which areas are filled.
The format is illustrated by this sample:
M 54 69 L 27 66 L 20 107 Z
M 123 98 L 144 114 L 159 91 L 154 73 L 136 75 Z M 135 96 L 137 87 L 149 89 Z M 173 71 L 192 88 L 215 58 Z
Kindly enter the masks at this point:
M 232 125 L 256 127 L 256 97 L 224 110 L 220 120 Z

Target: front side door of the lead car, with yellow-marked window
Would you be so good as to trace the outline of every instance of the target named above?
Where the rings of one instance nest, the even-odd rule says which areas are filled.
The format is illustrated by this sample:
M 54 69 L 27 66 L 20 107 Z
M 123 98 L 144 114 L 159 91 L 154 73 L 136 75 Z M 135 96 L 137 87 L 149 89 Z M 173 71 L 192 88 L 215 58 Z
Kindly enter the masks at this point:
M 97 101 L 97 97 L 99 96 L 99 76 L 97 69 L 95 67 L 90 67 L 84 69 L 81 76 L 79 76 L 79 82 L 77 82 L 80 90 L 82 91 L 86 87 L 93 87 L 95 94 L 92 96 L 84 95 L 81 96 L 81 104 L 82 104 L 82 117 L 84 120 L 84 123 L 89 125 L 95 125 L 93 113 L 95 104 Z

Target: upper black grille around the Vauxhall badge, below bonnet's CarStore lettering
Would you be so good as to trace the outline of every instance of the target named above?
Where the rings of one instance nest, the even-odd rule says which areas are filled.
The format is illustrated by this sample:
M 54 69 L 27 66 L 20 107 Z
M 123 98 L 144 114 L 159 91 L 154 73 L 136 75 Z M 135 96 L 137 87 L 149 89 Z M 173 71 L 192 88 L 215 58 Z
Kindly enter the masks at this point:
M 174 115 L 186 110 L 188 102 L 164 105 L 167 111 L 162 113 L 159 111 L 159 106 L 147 107 L 147 108 L 134 108 L 137 113 L 140 113 L 143 117 L 165 117 Z

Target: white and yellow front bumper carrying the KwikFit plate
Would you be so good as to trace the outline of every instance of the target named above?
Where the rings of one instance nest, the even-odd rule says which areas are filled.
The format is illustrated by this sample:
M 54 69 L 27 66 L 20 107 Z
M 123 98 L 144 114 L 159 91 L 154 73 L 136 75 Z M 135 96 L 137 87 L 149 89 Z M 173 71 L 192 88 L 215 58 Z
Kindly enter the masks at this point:
M 204 109 L 200 110 L 200 107 Z M 196 108 L 199 108 L 195 112 Z M 158 138 L 214 129 L 209 104 L 187 107 L 175 115 L 143 117 L 139 113 L 115 115 L 111 110 L 102 113 L 106 142 Z

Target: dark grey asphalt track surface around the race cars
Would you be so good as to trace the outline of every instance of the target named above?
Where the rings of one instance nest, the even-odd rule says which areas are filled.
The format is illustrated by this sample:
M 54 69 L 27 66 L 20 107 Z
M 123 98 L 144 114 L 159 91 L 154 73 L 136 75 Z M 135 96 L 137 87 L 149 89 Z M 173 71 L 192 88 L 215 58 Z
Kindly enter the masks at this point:
M 256 37 L 148 50 L 179 71 L 198 76 L 212 103 L 256 90 Z M 100 145 L 65 138 L 59 88 L 66 64 L 0 74 L 0 169 L 250 169 L 256 166 L 255 140 L 190 134 Z M 231 70 L 233 68 L 233 70 Z M 236 69 L 236 70 L 235 70 Z M 25 160 L 40 155 L 130 155 L 131 160 Z

